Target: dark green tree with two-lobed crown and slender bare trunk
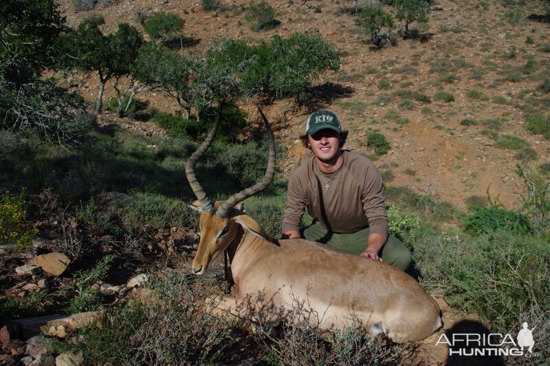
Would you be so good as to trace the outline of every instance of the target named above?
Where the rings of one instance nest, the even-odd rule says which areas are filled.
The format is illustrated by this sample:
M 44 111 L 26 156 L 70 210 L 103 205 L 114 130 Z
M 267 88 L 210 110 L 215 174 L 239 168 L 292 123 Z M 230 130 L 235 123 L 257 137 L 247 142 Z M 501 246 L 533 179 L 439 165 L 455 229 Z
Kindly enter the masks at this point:
M 129 74 L 142 45 L 142 37 L 132 25 L 119 23 L 115 34 L 104 35 L 99 29 L 103 23 L 102 17 L 88 17 L 75 32 L 65 37 L 67 53 L 71 54 L 69 63 L 83 72 L 98 73 L 97 111 L 102 109 L 107 81 L 113 76 Z

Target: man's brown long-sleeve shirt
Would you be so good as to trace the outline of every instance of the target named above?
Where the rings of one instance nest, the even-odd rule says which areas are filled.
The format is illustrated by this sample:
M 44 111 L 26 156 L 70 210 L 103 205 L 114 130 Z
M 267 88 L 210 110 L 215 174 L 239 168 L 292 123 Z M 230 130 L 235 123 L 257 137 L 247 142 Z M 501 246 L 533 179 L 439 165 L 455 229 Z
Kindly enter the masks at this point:
M 292 173 L 285 201 L 283 233 L 300 230 L 305 208 L 311 217 L 334 233 L 355 233 L 368 226 L 371 233 L 388 237 L 382 176 L 371 160 L 342 150 L 340 171 L 321 175 L 314 155 L 307 155 Z M 329 181 L 329 189 L 325 184 Z

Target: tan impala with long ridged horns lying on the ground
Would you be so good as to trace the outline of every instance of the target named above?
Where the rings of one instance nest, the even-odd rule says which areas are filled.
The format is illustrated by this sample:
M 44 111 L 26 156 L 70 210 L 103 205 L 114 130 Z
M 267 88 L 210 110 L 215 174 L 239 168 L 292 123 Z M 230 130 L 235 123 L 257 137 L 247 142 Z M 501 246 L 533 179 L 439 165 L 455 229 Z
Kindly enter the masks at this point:
M 186 164 L 188 182 L 202 210 L 200 242 L 192 271 L 202 275 L 212 259 L 228 252 L 238 296 L 219 308 L 239 317 L 253 318 L 239 305 L 252 301 L 256 319 L 270 323 L 285 320 L 296 304 L 320 314 L 319 326 L 344 330 L 359 322 L 371 334 L 384 334 L 397 343 L 420 341 L 441 327 L 439 306 L 419 283 L 405 272 L 380 261 L 338 252 L 305 239 L 277 240 L 234 208 L 270 184 L 275 170 L 275 142 L 267 118 L 270 155 L 263 180 L 213 204 L 195 177 L 195 164 L 208 149 L 214 127 Z M 245 314 L 245 311 L 250 314 Z M 257 314 L 263 312 L 263 314 Z M 238 314 L 237 314 L 238 313 Z

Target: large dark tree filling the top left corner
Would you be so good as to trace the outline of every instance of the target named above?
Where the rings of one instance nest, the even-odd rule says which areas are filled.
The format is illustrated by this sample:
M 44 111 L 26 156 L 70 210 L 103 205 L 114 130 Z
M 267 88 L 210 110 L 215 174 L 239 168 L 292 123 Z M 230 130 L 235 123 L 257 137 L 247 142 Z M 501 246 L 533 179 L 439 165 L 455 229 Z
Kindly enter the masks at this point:
M 41 78 L 55 67 L 65 18 L 52 0 L 0 3 L 0 128 L 34 129 L 47 140 L 76 140 L 87 123 L 75 118 L 83 98 Z

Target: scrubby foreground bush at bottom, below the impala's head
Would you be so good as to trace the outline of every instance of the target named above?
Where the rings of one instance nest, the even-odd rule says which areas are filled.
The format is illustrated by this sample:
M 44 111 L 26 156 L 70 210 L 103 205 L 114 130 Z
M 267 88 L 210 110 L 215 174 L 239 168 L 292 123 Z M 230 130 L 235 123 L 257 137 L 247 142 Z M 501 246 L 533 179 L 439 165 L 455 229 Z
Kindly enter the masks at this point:
M 90 364 L 210 365 L 230 349 L 225 319 L 203 310 L 212 283 L 199 288 L 180 272 L 151 277 L 151 297 L 143 305 L 109 310 L 99 324 L 79 330 L 67 350 L 83 352 Z M 210 286 L 210 289 L 207 286 Z

